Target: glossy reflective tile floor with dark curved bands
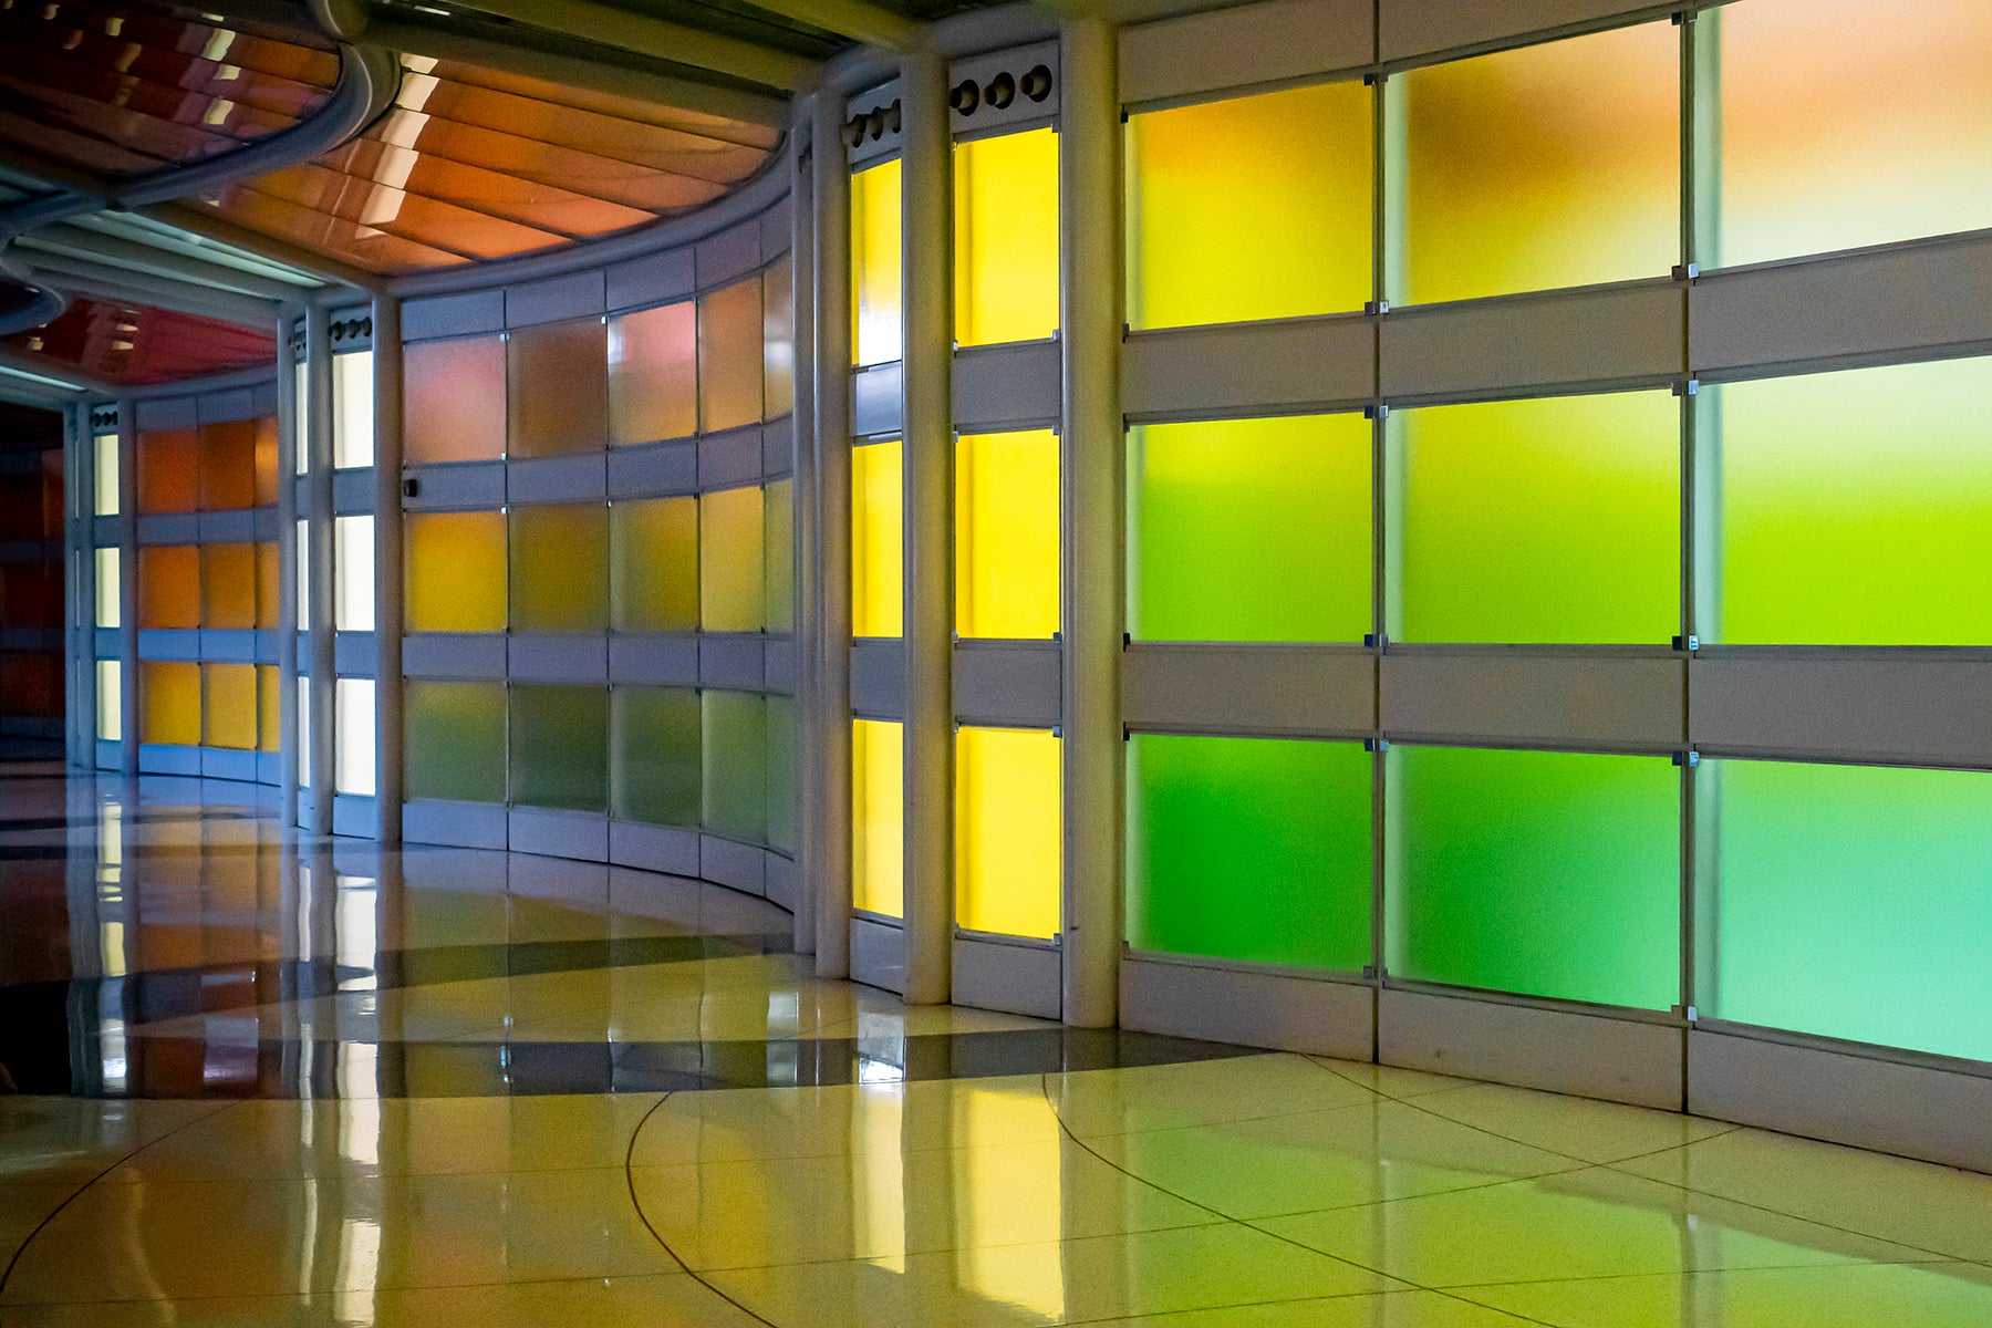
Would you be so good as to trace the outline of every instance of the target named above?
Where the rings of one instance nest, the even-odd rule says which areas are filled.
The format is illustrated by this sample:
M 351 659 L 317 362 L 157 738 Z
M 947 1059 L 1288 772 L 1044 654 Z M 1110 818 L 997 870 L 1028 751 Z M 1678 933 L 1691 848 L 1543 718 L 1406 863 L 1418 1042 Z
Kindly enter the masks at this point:
M 247 796 L 0 767 L 0 1324 L 1992 1324 L 1992 1177 L 908 1009 Z

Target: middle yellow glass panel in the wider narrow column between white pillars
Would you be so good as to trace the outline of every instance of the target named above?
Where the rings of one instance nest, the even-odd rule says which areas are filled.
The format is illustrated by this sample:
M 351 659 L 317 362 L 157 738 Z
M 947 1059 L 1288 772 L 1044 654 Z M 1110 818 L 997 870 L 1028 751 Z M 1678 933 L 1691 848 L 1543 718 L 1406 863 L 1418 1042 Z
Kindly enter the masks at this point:
M 1058 631 L 1058 434 L 966 434 L 954 446 L 954 631 Z

